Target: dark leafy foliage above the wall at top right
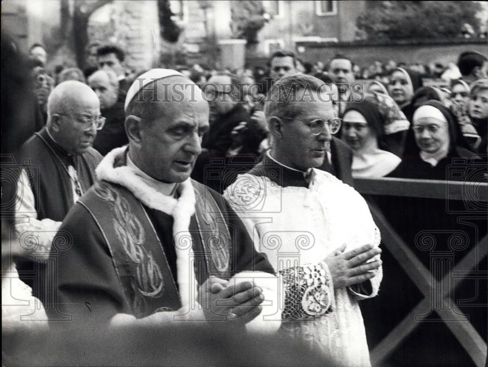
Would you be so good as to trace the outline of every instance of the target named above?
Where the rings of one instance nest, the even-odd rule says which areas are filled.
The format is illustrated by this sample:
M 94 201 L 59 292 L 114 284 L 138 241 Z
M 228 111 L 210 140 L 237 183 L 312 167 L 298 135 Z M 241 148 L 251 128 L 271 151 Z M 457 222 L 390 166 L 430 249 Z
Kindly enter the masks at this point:
M 356 26 L 369 39 L 439 39 L 459 37 L 463 25 L 479 29 L 474 1 L 368 1 Z

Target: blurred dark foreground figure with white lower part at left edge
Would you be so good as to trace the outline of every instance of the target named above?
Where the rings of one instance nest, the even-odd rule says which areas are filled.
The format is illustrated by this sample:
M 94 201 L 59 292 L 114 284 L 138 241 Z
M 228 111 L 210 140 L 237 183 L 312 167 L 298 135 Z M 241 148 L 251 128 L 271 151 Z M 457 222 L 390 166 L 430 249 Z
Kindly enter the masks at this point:
M 16 262 L 25 256 L 13 233 L 19 165 L 11 155 L 34 131 L 35 98 L 27 60 L 4 29 L 1 32 L 1 325 L 2 365 L 26 336 L 45 337 L 47 317 L 32 289 L 19 279 Z M 27 135 L 26 135 L 27 134 Z

